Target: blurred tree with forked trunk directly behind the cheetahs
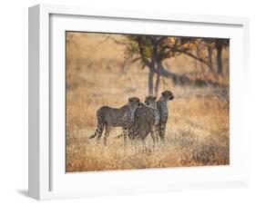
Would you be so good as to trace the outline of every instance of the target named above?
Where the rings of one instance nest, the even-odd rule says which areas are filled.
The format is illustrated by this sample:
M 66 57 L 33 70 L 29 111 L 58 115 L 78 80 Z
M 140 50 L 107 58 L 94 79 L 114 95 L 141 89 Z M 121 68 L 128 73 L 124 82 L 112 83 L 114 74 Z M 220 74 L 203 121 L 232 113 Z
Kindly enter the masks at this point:
M 148 68 L 149 94 L 156 96 L 159 94 L 160 77 L 171 78 L 174 83 L 189 83 L 189 78 L 185 75 L 171 73 L 164 68 L 162 62 L 167 58 L 186 54 L 200 61 L 200 63 L 209 65 L 205 57 L 193 54 L 200 38 L 134 34 L 125 36 L 128 39 L 126 43 L 126 62 L 128 60 L 131 60 L 131 62 L 140 61 L 142 68 Z M 155 85 L 154 75 L 157 75 Z

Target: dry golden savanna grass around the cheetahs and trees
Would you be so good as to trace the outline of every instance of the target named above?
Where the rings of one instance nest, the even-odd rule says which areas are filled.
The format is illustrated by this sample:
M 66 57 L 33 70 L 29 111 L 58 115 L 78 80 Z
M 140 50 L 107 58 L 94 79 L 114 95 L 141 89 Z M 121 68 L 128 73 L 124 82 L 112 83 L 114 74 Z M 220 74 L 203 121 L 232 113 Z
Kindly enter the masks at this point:
M 184 55 L 164 62 L 172 72 L 220 85 L 183 86 L 161 79 L 159 90 L 170 90 L 175 99 L 169 102 L 166 141 L 156 148 L 149 135 L 146 149 L 131 143 L 124 148 L 117 138 L 120 128 L 112 129 L 106 148 L 88 140 L 100 106 L 121 107 L 128 97 L 144 101 L 148 95 L 148 69 L 138 63 L 122 69 L 123 62 L 124 45 L 105 41 L 103 34 L 67 33 L 67 172 L 229 164 L 228 51 L 222 76 L 202 72 L 199 62 Z

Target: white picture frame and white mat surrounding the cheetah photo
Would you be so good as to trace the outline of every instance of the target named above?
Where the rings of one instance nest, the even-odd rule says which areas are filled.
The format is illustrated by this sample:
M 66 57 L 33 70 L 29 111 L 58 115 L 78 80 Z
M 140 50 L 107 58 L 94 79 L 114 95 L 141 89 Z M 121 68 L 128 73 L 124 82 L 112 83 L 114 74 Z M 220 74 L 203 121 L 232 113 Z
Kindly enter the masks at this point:
M 97 22 L 93 22 L 97 19 Z M 111 22 L 112 20 L 115 20 Z M 106 25 L 108 21 L 108 26 Z M 126 22 L 126 26 L 121 26 Z M 84 28 L 82 25 L 87 24 Z M 56 123 L 65 115 L 55 104 L 65 106 L 62 89 L 65 61 L 62 34 L 68 28 L 77 31 L 141 33 L 141 24 L 154 24 L 163 34 L 161 24 L 182 24 L 178 35 L 229 37 L 230 46 L 230 166 L 169 168 L 143 171 L 101 171 L 100 173 L 67 174 L 63 170 L 65 140 L 56 136 Z M 189 32 L 186 26 L 199 26 Z M 70 27 L 68 27 L 70 26 Z M 181 26 L 181 27 L 182 27 Z M 218 27 L 219 26 L 219 27 Z M 67 28 L 68 27 L 68 28 Z M 152 27 L 152 26 L 151 26 Z M 207 29 L 209 27 L 209 29 Z M 211 30 L 210 30 L 211 29 Z M 209 31 L 208 31 L 209 30 Z M 159 33 L 157 33 L 159 32 Z M 188 34 L 190 33 L 190 34 Z M 176 34 L 176 33 L 175 33 Z M 233 39 L 233 40 L 232 40 Z M 232 45 L 233 44 L 233 45 Z M 233 51 L 232 51 L 233 49 Z M 240 92 L 248 76 L 249 20 L 217 15 L 181 15 L 157 12 L 120 11 L 65 5 L 36 5 L 29 8 L 29 173 L 28 193 L 37 200 L 104 196 L 152 191 L 213 189 L 249 184 L 249 139 L 242 129 L 243 98 Z M 59 59 L 59 61 L 56 61 Z M 51 68 L 60 69 L 51 69 Z M 239 94 L 238 94 L 239 93 Z M 246 93 L 244 93 L 245 95 Z M 53 100 L 55 99 L 55 100 Z M 58 100 L 57 100 L 58 99 Z M 54 101 L 54 102 L 53 102 Z M 55 114 L 57 112 L 58 114 Z M 52 120 L 53 116 L 54 120 Z M 54 122 L 54 123 L 52 123 Z M 240 126 L 238 126 L 240 125 Z M 60 132 L 62 132 L 60 130 Z M 158 177 L 156 177 L 158 176 Z M 148 180 L 150 179 L 150 181 Z

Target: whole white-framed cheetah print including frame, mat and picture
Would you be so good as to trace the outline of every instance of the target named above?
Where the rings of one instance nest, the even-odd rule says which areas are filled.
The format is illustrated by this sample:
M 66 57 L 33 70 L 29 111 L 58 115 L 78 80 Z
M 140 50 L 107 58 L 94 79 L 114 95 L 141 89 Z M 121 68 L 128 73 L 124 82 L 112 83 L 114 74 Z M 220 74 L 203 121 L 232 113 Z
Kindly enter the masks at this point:
M 29 196 L 246 186 L 249 21 L 29 8 Z

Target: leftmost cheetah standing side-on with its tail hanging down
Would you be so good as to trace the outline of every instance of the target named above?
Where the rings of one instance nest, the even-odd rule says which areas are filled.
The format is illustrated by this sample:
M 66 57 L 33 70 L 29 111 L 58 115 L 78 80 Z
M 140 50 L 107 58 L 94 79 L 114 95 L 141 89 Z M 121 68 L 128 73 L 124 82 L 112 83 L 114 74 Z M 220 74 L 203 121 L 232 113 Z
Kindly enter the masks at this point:
M 131 97 L 128 99 L 128 104 L 121 108 L 112 108 L 109 106 L 100 107 L 97 110 L 97 130 L 89 139 L 97 137 L 97 141 L 99 141 L 105 129 L 103 141 L 106 146 L 111 128 L 122 127 L 124 140 L 126 142 L 128 129 L 134 122 L 134 112 L 140 105 L 141 102 L 138 97 Z

